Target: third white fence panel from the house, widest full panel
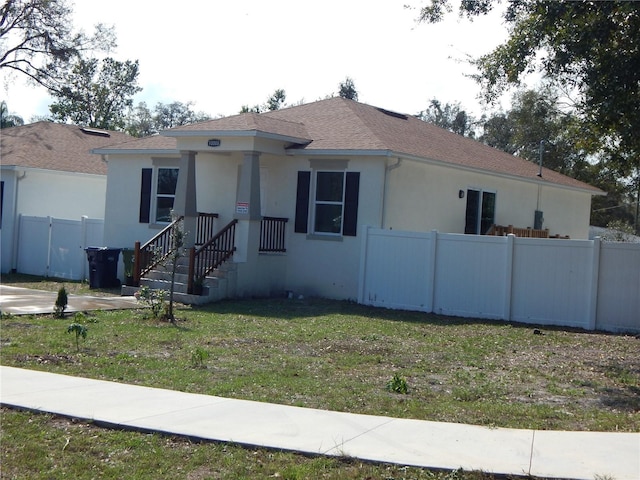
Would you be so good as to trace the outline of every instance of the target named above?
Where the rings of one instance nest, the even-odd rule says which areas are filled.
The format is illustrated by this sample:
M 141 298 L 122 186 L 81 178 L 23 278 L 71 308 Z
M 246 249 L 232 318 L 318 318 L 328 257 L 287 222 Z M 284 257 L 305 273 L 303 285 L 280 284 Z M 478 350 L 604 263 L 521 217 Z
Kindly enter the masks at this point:
M 593 242 L 516 238 L 511 318 L 588 328 Z

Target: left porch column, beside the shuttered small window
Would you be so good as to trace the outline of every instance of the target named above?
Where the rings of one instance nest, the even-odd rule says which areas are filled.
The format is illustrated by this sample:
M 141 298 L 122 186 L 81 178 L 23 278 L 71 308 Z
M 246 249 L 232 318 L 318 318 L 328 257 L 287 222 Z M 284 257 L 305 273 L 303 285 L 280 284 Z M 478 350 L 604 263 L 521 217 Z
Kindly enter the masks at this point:
M 176 185 L 176 198 L 173 212 L 184 216 L 185 248 L 191 248 L 196 241 L 198 226 L 198 208 L 196 205 L 196 152 L 180 152 L 180 171 Z

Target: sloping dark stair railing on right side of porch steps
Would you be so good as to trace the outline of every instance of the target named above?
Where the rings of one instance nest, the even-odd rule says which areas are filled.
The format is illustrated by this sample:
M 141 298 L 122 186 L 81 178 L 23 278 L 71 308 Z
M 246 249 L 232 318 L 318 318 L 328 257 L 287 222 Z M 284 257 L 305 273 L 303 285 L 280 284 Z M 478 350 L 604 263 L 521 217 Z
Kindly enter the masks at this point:
M 216 236 L 201 247 L 189 251 L 189 277 L 187 291 L 193 292 L 194 281 L 201 281 L 211 271 L 227 261 L 236 251 L 236 224 L 232 220 Z

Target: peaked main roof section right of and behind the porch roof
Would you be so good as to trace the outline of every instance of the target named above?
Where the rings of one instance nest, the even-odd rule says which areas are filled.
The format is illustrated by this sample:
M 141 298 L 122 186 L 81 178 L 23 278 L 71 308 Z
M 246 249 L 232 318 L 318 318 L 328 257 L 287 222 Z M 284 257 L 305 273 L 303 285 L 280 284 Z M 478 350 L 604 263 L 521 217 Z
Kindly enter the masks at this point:
M 391 112 L 334 97 L 264 115 L 304 121 L 314 139 L 304 151 L 382 150 L 473 170 L 543 181 L 602 193 L 598 188 L 543 168 L 471 138 L 455 134 L 413 115 Z

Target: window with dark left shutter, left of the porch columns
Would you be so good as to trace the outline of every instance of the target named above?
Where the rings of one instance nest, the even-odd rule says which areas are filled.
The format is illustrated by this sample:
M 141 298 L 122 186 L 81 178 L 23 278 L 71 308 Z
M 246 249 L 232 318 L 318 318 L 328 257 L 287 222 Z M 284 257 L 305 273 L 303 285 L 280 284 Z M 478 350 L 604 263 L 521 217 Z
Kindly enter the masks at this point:
M 140 223 L 171 222 L 171 210 L 178 184 L 177 168 L 143 168 L 140 184 Z M 154 180 L 155 173 L 155 182 Z M 153 211 L 152 211 L 153 206 Z

